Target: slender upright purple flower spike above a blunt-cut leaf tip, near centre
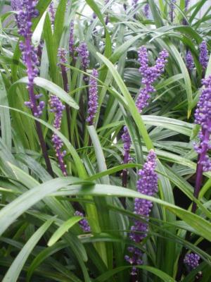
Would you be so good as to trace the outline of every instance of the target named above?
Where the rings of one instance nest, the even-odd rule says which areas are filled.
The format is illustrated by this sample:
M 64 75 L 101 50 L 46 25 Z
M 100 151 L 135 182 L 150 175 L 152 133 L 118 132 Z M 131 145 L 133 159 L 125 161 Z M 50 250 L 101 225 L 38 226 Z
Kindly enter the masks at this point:
M 96 78 L 98 78 L 98 71 L 94 69 L 92 71 L 94 78 L 90 78 L 89 81 L 89 102 L 88 102 L 88 117 L 87 121 L 89 125 L 94 124 L 94 117 L 98 109 L 98 83 Z

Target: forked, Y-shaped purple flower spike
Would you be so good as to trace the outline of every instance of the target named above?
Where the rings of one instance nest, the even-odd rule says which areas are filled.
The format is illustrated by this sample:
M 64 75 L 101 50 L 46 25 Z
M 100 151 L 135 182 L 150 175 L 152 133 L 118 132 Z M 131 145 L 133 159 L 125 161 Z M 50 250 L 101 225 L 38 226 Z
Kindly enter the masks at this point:
M 155 88 L 153 87 L 153 82 L 157 80 L 160 75 L 165 70 L 165 63 L 167 63 L 167 57 L 169 54 L 164 49 L 160 52 L 158 59 L 155 62 L 155 66 L 148 66 L 148 54 L 146 47 L 141 47 L 139 49 L 139 63 L 141 67 L 139 68 L 139 72 L 142 75 L 142 84 L 144 85 L 141 90 L 139 97 L 136 99 L 136 106 L 139 109 L 139 113 L 143 111 L 143 108 L 148 106 L 148 99 L 151 97 L 150 94 L 155 92 Z

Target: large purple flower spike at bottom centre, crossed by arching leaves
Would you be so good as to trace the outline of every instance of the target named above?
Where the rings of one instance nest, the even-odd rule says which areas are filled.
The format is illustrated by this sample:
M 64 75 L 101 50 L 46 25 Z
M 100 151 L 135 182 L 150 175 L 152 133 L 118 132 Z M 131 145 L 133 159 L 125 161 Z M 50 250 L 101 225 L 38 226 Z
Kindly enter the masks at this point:
M 158 175 L 155 172 L 156 154 L 153 150 L 148 153 L 147 161 L 143 168 L 139 170 L 139 180 L 136 183 L 137 191 L 143 195 L 154 196 L 158 192 Z M 148 216 L 151 213 L 153 203 L 148 200 L 136 198 L 134 202 L 134 214 L 140 215 L 141 219 L 148 221 Z M 130 238 L 135 243 L 141 243 L 143 238 L 146 238 L 148 233 L 148 223 L 143 223 L 139 220 L 134 220 L 134 225 L 131 227 Z M 129 247 L 130 256 L 124 258 L 132 265 L 143 264 L 142 252 L 137 247 Z M 136 267 L 132 268 L 132 275 L 136 275 Z

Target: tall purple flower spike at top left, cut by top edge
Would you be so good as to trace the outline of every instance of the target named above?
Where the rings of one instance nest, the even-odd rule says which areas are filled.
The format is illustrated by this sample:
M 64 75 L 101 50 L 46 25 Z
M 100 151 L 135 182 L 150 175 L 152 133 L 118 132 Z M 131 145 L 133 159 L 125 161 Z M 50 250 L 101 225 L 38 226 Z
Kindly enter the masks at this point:
M 19 44 L 23 61 L 27 66 L 27 76 L 29 80 L 27 90 L 29 90 L 30 102 L 25 102 L 25 105 L 32 109 L 34 116 L 39 117 L 44 109 L 44 102 L 37 102 L 41 94 L 34 94 L 34 78 L 36 78 L 39 73 L 37 48 L 32 45 L 32 19 L 39 15 L 39 12 L 35 8 L 36 4 L 36 1 L 30 0 L 11 1 L 11 6 L 18 11 L 15 17 L 18 25 L 18 33 L 25 39 Z

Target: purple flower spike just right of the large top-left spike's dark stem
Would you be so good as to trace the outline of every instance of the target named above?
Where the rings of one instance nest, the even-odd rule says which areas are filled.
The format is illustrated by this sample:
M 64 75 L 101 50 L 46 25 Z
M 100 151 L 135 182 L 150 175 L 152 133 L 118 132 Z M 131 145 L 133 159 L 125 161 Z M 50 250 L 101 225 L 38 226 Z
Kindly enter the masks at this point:
M 65 109 L 65 106 L 62 104 L 62 102 L 60 102 L 60 99 L 55 95 L 51 95 L 50 97 L 50 106 L 51 106 L 51 111 L 55 114 L 53 127 L 56 128 L 57 130 L 60 130 L 63 110 Z M 53 133 L 52 142 L 53 142 L 53 147 L 56 150 L 56 157 L 58 158 L 58 164 L 60 170 L 63 172 L 63 176 L 67 176 L 66 166 L 63 161 L 63 157 L 65 157 L 66 152 L 61 150 L 63 147 L 63 142 L 62 140 L 60 140 L 60 137 L 56 135 L 56 133 Z

